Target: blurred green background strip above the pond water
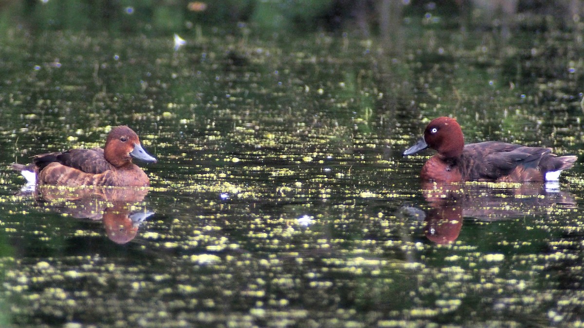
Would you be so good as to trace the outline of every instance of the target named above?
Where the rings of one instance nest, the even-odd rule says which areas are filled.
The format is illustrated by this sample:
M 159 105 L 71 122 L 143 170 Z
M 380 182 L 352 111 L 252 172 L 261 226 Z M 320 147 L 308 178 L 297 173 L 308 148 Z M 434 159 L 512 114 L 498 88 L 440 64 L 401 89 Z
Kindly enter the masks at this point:
M 365 36 L 392 29 L 401 16 L 444 26 L 506 29 L 537 15 L 552 25 L 579 20 L 580 0 L 0 0 L 0 31 L 46 29 L 184 33 L 197 27 L 257 32 L 356 31 Z M 541 27 L 540 24 L 537 26 Z

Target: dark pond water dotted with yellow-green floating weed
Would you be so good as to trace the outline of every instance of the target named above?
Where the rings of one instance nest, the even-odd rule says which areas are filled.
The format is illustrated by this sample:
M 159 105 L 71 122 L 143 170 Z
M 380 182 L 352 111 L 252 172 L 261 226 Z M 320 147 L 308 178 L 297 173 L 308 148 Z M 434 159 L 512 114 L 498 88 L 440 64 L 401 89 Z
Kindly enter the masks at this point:
M 15 32 L 0 50 L 3 324 L 581 324 L 579 164 L 559 190 L 424 192 L 432 152 L 401 152 L 452 115 L 467 141 L 580 155 L 582 44 L 411 33 L 395 57 L 325 34 L 216 32 L 175 52 L 171 37 Z M 144 199 L 15 196 L 9 163 L 103 145 L 118 124 L 159 160 L 140 163 Z

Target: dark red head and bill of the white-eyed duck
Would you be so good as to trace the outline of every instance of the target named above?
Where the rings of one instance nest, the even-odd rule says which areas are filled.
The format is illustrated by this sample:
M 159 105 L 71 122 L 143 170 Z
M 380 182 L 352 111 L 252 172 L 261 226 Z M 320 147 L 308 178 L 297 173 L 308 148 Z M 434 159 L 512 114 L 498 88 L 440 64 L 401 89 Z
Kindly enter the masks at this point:
M 463 130 L 454 118 L 434 118 L 426 127 L 424 136 L 404 151 L 404 156 L 413 155 L 426 148 L 436 150 L 444 158 L 455 158 L 463 153 Z

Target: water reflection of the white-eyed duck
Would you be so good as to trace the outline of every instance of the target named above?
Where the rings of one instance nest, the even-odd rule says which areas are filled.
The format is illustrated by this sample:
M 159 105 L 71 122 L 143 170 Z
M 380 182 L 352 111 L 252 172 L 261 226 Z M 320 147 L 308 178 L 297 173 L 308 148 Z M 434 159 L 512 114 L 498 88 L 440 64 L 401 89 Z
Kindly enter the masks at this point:
M 423 183 L 423 195 L 430 210 L 426 215 L 418 208 L 409 214 L 423 218 L 426 238 L 434 243 L 453 243 L 460 235 L 463 219 L 499 221 L 548 213 L 555 208 L 576 208 L 575 198 L 543 183 Z

